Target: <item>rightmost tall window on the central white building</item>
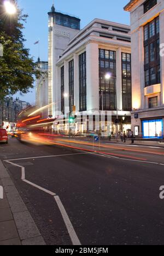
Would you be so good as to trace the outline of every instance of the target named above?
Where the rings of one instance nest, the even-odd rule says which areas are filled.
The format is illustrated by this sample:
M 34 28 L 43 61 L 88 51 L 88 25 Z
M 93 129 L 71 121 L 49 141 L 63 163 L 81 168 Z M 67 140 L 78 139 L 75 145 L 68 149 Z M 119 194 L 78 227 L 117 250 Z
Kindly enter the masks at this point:
M 132 109 L 131 54 L 122 53 L 122 108 Z

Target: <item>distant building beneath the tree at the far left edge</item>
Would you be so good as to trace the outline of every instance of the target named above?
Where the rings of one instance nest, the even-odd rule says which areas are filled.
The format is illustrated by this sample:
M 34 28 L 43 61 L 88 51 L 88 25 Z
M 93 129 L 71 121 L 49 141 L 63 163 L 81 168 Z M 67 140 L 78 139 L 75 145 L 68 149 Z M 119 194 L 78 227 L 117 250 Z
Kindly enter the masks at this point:
M 19 98 L 13 100 L 12 97 L 6 97 L 0 102 L 0 127 L 7 131 L 15 131 L 17 117 L 21 110 L 30 107 L 30 103 L 21 101 Z

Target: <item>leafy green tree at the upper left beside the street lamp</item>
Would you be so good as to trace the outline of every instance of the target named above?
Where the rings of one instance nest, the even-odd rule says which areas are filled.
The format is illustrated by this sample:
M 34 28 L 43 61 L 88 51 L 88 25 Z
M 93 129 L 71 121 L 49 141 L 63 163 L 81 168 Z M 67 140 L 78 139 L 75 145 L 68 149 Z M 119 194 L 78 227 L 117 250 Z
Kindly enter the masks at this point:
M 27 15 L 17 7 L 17 13 L 9 16 L 4 10 L 4 0 L 0 0 L 0 43 L 3 45 L 3 57 L 0 57 L 0 98 L 13 95 L 17 91 L 27 93 L 33 88 L 34 75 L 39 71 L 29 49 L 24 46 L 23 22 Z

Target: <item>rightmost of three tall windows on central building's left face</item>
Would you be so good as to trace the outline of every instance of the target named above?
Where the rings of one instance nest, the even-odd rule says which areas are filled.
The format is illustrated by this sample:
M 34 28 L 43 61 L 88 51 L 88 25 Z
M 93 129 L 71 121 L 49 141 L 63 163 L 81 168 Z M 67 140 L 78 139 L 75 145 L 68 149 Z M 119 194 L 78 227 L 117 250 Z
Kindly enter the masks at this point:
M 79 55 L 79 111 L 86 111 L 86 52 Z

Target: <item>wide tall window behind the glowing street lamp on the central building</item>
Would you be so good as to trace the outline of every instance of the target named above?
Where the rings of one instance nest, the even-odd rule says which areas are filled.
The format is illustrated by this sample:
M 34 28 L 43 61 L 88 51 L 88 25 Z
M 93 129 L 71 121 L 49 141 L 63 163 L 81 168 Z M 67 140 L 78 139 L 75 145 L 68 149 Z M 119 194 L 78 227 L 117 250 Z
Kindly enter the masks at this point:
M 102 65 L 104 63 L 104 65 Z M 107 73 L 110 79 L 105 79 Z M 116 109 L 116 53 L 99 49 L 99 109 Z M 103 104 L 103 106 L 102 106 Z

